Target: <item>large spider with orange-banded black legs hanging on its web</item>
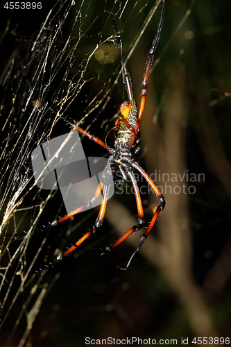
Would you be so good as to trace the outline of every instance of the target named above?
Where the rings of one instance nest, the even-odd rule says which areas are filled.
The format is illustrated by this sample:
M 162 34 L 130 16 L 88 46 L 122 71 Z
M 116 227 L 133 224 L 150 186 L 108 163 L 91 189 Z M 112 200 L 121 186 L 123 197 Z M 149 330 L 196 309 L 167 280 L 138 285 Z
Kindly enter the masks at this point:
M 126 266 L 125 269 L 128 268 L 130 261 L 132 260 L 132 257 L 139 251 L 139 248 L 141 248 L 142 244 L 144 243 L 145 239 L 148 237 L 149 233 L 151 232 L 155 221 L 160 214 L 160 212 L 164 209 L 165 206 L 165 199 L 160 190 L 156 187 L 156 185 L 153 183 L 151 178 L 146 174 L 144 169 L 139 166 L 137 162 L 135 162 L 133 156 L 136 151 L 139 151 L 139 149 L 135 149 L 135 140 L 137 137 L 137 133 L 139 131 L 139 124 L 142 119 L 143 111 L 144 111 L 144 105 L 145 105 L 145 100 L 146 100 L 146 91 L 148 87 L 148 74 L 151 69 L 151 65 L 153 63 L 153 58 L 154 58 L 154 53 L 155 49 L 157 47 L 157 43 L 160 39 L 160 32 L 162 29 L 162 22 L 163 22 L 163 17 L 164 17 L 164 6 L 165 6 L 165 0 L 162 0 L 162 9 L 160 13 L 160 20 L 159 24 L 157 27 L 157 33 L 155 35 L 155 38 L 153 40 L 153 43 L 151 45 L 150 51 L 148 51 L 148 57 L 146 60 L 146 65 L 144 69 L 144 77 L 142 81 L 142 93 L 141 93 L 141 100 L 140 100 L 140 105 L 139 105 L 139 111 L 137 110 L 137 104 L 133 98 L 133 93 L 132 93 L 132 83 L 131 83 L 131 78 L 130 74 L 128 72 L 128 68 L 126 66 L 125 59 L 123 57 L 123 51 L 122 51 L 122 45 L 121 45 L 121 39 L 119 36 L 119 33 L 117 31 L 117 26 L 116 23 L 113 19 L 114 22 L 114 31 L 115 31 L 115 36 L 117 38 L 117 42 L 120 47 L 121 51 L 121 62 L 122 62 L 122 73 L 123 73 L 123 81 L 126 83 L 126 90 L 128 92 L 128 99 L 129 101 L 123 102 L 120 106 L 120 115 L 119 118 L 115 121 L 115 134 L 116 134 L 116 139 L 114 141 L 114 148 L 110 148 L 105 142 L 101 141 L 98 137 L 95 137 L 94 135 L 91 135 L 87 133 L 87 131 L 83 130 L 79 126 L 76 126 L 75 124 L 71 124 L 71 126 L 74 128 L 74 130 L 78 130 L 80 133 L 83 133 L 83 135 L 86 135 L 89 139 L 94 140 L 97 144 L 100 144 L 109 152 L 109 158 L 108 158 L 108 165 L 110 165 L 110 169 L 112 169 L 112 173 L 115 174 L 118 170 L 121 172 L 123 179 L 121 182 L 126 181 L 126 177 L 128 177 L 131 182 L 132 186 L 134 188 L 135 192 L 135 198 L 136 198 L 136 203 L 137 203 L 137 211 L 138 211 L 138 220 L 137 224 L 135 226 L 132 226 L 130 230 L 128 230 L 123 236 L 119 237 L 116 242 L 113 242 L 110 244 L 110 246 L 107 246 L 104 250 L 101 251 L 101 254 L 105 254 L 107 252 L 112 251 L 112 249 L 117 248 L 119 244 L 121 244 L 129 235 L 131 235 L 133 232 L 140 230 L 144 226 L 144 210 L 142 207 L 142 201 L 141 197 L 139 194 L 139 188 L 137 185 L 137 181 L 135 179 L 135 175 L 132 171 L 132 168 L 136 169 L 139 174 L 141 174 L 148 185 L 151 186 L 153 189 L 153 192 L 155 192 L 155 195 L 159 199 L 160 203 L 157 206 L 155 213 L 153 215 L 153 218 L 151 219 L 150 223 L 148 223 L 148 226 L 145 230 L 145 232 L 142 234 L 142 237 L 140 239 L 139 246 L 135 250 L 135 252 L 132 254 L 130 257 L 130 260 Z M 105 169 L 106 173 L 107 169 Z M 118 183 L 118 179 L 115 177 L 114 178 L 114 184 Z M 96 230 L 99 230 L 101 228 L 103 219 L 105 216 L 105 210 L 106 210 L 106 205 L 107 205 L 107 200 L 108 200 L 108 192 L 109 192 L 109 186 L 107 185 L 107 174 L 104 176 L 104 180 L 101 181 L 99 184 L 99 187 L 96 189 L 96 192 L 92 196 L 91 200 L 87 202 L 87 204 L 94 204 L 96 199 L 99 197 L 101 194 L 101 191 L 103 191 L 103 199 L 101 203 L 101 208 L 99 211 L 99 215 L 94 223 L 94 226 L 90 230 L 88 230 L 83 237 L 78 239 L 76 244 L 73 244 L 70 248 L 67 249 L 67 251 L 64 251 L 62 255 L 59 255 L 56 258 L 56 261 L 61 260 L 64 257 L 67 257 L 67 255 L 71 254 L 82 244 L 85 239 L 87 239 L 90 235 L 92 235 Z M 81 206 L 77 210 L 74 210 L 73 212 L 67 214 L 65 217 L 55 219 L 52 223 L 51 226 L 56 226 L 59 223 L 62 223 L 63 221 L 69 219 L 70 217 L 74 216 L 74 214 L 80 212 L 85 208 L 85 205 Z

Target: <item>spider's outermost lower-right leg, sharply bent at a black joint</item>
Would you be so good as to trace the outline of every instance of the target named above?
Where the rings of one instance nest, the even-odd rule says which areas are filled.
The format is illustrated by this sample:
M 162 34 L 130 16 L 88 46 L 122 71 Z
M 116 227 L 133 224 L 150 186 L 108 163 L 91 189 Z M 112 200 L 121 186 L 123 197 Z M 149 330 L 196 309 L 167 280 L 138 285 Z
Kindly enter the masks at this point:
M 131 162 L 131 165 L 132 165 L 132 167 L 135 167 L 135 169 L 137 169 L 137 171 L 139 171 L 140 174 L 142 174 L 142 176 L 146 179 L 148 184 L 151 185 L 153 191 L 155 192 L 155 195 L 157 196 L 157 198 L 160 201 L 160 204 L 157 206 L 157 209 L 155 210 L 154 216 L 151 219 L 151 222 L 149 223 L 148 228 L 146 228 L 145 232 L 142 234 L 142 237 L 141 237 L 140 242 L 139 242 L 139 246 L 137 247 L 135 252 L 130 257 L 130 260 L 128 261 L 128 264 L 126 265 L 126 267 L 125 268 L 121 268 L 121 270 L 128 269 L 128 266 L 130 265 L 132 257 L 134 257 L 135 253 L 137 253 L 139 251 L 139 249 L 142 247 L 142 244 L 144 244 L 144 241 L 146 240 L 146 238 L 150 234 L 150 232 L 151 232 L 151 230 L 152 230 L 152 228 L 153 228 L 153 226 L 155 224 L 155 221 L 157 220 L 158 215 L 160 214 L 160 212 L 162 210 L 164 210 L 164 206 L 165 206 L 165 198 L 164 198 L 164 196 L 162 195 L 160 190 L 156 187 L 156 185 L 153 183 L 153 181 L 148 176 L 148 174 L 146 174 L 144 169 L 142 169 L 142 167 L 140 167 L 139 164 L 137 164 L 137 162 Z

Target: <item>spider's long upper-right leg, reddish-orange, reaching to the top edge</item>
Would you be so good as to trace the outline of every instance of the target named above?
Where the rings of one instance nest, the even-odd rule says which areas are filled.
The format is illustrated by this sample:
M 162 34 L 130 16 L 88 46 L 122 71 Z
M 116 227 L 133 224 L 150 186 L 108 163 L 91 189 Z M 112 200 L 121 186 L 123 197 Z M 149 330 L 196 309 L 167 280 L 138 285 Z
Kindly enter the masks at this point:
M 143 115 L 143 111 L 144 111 L 146 92 L 148 89 L 148 74 L 149 74 L 149 71 L 150 71 L 151 66 L 153 64 L 153 58 L 154 58 L 155 49 L 157 47 L 157 43 L 160 39 L 160 32 L 161 32 L 162 22 L 163 22 L 163 17 L 164 17 L 164 6 L 165 6 L 165 0 L 162 0 L 162 9 L 160 12 L 160 21 L 158 24 L 157 33 L 156 33 L 155 38 L 153 40 L 153 43 L 151 45 L 151 49 L 150 49 L 150 51 L 148 51 L 148 57 L 146 60 L 146 67 L 144 70 L 144 77 L 143 77 L 143 82 L 142 82 L 143 89 L 142 89 L 140 105 L 139 105 L 139 113 L 138 113 L 137 122 L 135 125 L 135 134 L 132 134 L 132 137 L 130 139 L 130 144 L 129 144 L 130 149 L 132 148 L 132 146 L 135 142 L 135 137 L 136 137 L 137 132 L 139 130 L 139 124 L 140 124 L 140 121 L 142 119 L 142 115 Z

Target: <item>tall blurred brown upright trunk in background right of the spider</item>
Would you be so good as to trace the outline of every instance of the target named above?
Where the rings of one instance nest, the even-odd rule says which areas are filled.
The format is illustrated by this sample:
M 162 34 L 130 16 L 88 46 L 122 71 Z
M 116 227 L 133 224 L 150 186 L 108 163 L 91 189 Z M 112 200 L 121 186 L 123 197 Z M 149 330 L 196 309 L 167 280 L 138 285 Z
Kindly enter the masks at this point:
M 180 174 L 186 170 L 185 136 L 181 121 L 187 117 L 185 106 L 185 67 L 179 65 L 166 98 L 164 113 L 164 147 L 159 146 L 159 167 L 162 172 Z M 186 181 L 184 182 L 188 184 Z M 168 249 L 168 258 L 162 268 L 164 276 L 176 291 L 187 310 L 191 328 L 201 337 L 215 337 L 207 303 L 193 279 L 192 242 L 189 228 L 189 194 L 174 194 L 174 182 L 169 182 L 172 192 L 167 196 L 167 210 L 160 219 L 160 237 Z

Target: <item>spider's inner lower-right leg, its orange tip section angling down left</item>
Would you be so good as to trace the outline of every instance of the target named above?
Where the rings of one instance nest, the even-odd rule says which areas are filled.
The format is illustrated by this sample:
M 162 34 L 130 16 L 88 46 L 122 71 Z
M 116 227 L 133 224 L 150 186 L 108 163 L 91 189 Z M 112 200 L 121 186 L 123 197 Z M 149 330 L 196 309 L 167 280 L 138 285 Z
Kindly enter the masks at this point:
M 128 164 L 122 164 L 122 165 L 126 170 L 126 174 L 128 174 L 128 176 L 130 177 L 130 180 L 132 181 L 132 186 L 134 187 L 134 190 L 135 190 L 135 198 L 137 202 L 137 211 L 138 211 L 138 223 L 135 226 L 132 226 L 132 228 L 130 228 L 130 230 L 128 230 L 123 236 L 117 239 L 116 242 L 113 242 L 113 244 L 110 244 L 110 246 L 106 247 L 105 251 L 112 251 L 112 249 L 117 248 L 117 246 L 119 246 L 129 235 L 131 235 L 135 231 L 138 231 L 144 225 L 144 210 L 142 207 L 142 201 L 139 194 L 139 187 L 137 185 L 135 175 L 133 174 Z M 104 254 L 104 252 L 101 254 Z

